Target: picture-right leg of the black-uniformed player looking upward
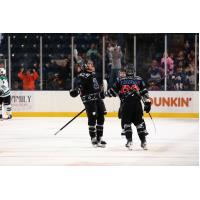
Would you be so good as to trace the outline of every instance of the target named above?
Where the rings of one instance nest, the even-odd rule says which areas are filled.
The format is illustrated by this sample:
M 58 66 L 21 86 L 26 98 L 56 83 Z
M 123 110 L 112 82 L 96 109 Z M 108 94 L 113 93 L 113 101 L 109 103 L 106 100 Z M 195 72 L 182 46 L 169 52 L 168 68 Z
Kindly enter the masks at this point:
M 97 125 L 96 125 L 96 130 L 97 130 L 97 142 L 98 146 L 100 147 L 105 147 L 106 142 L 102 139 L 103 137 L 103 129 L 104 129 L 104 115 L 106 113 L 106 108 L 104 105 L 103 100 L 98 100 L 96 101 L 96 106 L 97 106 Z

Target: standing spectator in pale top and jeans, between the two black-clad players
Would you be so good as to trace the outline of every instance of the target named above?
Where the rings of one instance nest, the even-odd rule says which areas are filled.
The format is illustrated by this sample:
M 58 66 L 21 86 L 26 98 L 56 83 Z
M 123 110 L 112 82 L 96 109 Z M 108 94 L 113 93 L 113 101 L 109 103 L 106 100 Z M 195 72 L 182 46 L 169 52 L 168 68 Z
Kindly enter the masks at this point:
M 121 47 L 117 45 L 117 42 L 113 42 L 111 46 L 108 48 L 108 53 L 110 55 L 110 60 L 112 61 L 111 66 L 111 74 L 109 80 L 109 86 L 112 86 L 119 76 L 119 70 L 121 69 L 121 59 L 122 59 L 122 51 Z

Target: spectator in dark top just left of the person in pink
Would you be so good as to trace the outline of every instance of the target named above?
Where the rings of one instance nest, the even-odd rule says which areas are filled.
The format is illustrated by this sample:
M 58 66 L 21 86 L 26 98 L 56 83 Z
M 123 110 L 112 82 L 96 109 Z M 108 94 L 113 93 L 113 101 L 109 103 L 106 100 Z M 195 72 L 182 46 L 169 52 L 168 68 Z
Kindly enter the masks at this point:
M 159 67 L 158 61 L 155 59 L 152 60 L 151 66 L 148 70 L 148 77 L 148 81 L 152 80 L 158 85 L 161 83 L 164 77 L 164 70 L 161 67 Z

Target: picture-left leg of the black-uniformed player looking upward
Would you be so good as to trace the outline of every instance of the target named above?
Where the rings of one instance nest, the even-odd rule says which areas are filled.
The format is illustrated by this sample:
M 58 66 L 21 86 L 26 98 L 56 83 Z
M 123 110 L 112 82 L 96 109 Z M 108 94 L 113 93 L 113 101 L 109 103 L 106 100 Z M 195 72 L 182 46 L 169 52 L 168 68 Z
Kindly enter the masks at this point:
M 94 102 L 85 103 L 85 109 L 88 117 L 88 128 L 89 128 L 89 135 L 91 138 L 92 144 L 95 146 L 97 145 L 96 140 L 96 106 Z

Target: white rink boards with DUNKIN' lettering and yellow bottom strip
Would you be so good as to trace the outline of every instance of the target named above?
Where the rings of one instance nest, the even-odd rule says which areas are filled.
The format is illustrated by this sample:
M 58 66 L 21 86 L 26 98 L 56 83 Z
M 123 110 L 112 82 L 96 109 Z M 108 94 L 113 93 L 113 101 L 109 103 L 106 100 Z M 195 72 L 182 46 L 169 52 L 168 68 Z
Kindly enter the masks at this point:
M 154 117 L 199 116 L 199 92 L 152 91 L 150 97 Z M 105 98 L 104 102 L 108 116 L 116 117 L 119 98 Z M 12 91 L 14 116 L 74 116 L 83 108 L 80 97 L 72 98 L 66 91 Z

